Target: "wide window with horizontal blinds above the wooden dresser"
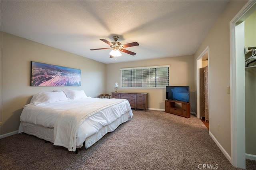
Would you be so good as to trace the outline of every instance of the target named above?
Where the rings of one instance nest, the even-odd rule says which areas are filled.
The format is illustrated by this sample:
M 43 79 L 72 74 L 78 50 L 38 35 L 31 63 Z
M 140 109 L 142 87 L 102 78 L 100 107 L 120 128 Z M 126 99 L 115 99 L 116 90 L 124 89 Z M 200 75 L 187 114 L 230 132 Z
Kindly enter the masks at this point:
M 121 87 L 166 88 L 169 85 L 170 65 L 125 68 L 121 70 Z

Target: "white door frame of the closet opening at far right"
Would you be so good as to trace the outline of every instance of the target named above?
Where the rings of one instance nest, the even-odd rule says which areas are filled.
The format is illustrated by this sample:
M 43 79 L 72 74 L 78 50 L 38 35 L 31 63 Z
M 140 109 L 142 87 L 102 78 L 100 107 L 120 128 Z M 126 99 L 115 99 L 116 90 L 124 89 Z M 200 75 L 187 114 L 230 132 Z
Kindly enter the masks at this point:
M 246 13 L 256 4 L 255 0 L 246 5 L 230 21 L 230 123 L 231 123 L 231 163 L 238 168 L 246 168 L 245 157 L 245 79 L 244 23 Z M 238 24 L 241 23 L 241 24 Z M 243 34 L 243 35 L 242 35 Z M 243 67 L 243 68 L 242 68 Z M 242 71 L 243 70 L 243 71 Z M 239 97 L 238 97 L 239 96 Z

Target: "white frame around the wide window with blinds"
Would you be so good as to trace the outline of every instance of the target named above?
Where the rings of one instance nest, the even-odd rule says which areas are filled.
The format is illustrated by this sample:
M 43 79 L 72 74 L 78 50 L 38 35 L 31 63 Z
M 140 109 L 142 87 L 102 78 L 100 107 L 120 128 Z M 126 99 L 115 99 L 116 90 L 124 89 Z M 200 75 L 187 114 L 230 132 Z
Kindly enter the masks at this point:
M 159 87 L 123 87 L 123 81 L 122 81 L 122 71 L 123 70 L 138 70 L 138 69 L 156 69 L 156 68 L 164 68 L 168 67 L 168 82 L 166 86 L 169 85 L 169 67 L 170 65 L 158 65 L 158 66 L 148 66 L 148 67 L 132 67 L 132 68 L 121 68 L 120 69 L 120 80 L 121 80 L 121 85 L 120 88 L 122 89 L 165 89 L 166 86 L 159 86 Z

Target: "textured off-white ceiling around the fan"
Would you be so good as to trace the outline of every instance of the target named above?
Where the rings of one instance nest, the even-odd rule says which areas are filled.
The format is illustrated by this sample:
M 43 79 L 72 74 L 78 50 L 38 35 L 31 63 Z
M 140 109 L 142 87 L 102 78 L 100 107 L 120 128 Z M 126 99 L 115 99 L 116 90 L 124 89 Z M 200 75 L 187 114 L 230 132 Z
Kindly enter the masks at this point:
M 0 1 L 1 31 L 102 63 L 193 55 L 228 1 Z M 138 42 L 110 58 L 99 39 Z

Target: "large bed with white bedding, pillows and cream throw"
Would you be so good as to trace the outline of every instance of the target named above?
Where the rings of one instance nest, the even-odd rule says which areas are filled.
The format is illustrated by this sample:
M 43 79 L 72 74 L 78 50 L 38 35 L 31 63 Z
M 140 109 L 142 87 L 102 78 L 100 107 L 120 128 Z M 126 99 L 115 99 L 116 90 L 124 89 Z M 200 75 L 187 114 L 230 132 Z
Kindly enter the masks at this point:
M 132 116 L 126 99 L 91 98 L 83 90 L 40 92 L 24 106 L 18 133 L 34 135 L 77 154 L 77 148 L 92 146 Z

